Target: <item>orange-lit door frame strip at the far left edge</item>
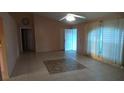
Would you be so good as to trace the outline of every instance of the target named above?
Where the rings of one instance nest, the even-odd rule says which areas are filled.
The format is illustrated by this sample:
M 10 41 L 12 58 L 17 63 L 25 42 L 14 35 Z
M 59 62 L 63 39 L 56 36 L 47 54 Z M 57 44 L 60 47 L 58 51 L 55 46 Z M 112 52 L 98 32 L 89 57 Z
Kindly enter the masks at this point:
M 0 17 L 0 40 L 1 40 L 1 50 L 2 50 L 2 61 L 0 62 L 2 80 L 9 79 L 8 65 L 7 65 L 7 47 L 6 38 L 3 29 L 3 19 Z

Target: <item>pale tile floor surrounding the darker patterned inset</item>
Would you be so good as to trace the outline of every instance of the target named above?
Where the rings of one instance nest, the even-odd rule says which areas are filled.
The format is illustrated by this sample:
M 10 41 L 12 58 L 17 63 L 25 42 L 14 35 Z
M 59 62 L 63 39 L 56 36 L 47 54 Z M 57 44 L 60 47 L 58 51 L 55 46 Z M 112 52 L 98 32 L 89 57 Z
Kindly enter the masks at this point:
M 46 60 L 70 58 L 86 68 L 49 74 Z M 10 81 L 122 81 L 124 69 L 97 62 L 74 52 L 26 53 L 17 61 Z

